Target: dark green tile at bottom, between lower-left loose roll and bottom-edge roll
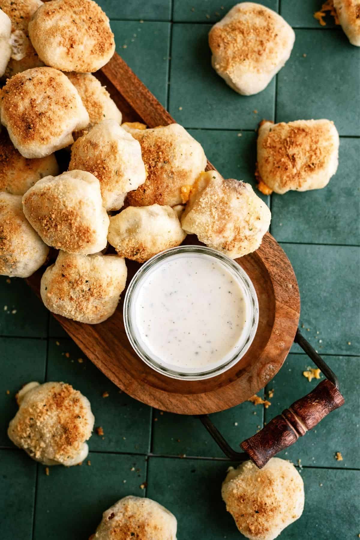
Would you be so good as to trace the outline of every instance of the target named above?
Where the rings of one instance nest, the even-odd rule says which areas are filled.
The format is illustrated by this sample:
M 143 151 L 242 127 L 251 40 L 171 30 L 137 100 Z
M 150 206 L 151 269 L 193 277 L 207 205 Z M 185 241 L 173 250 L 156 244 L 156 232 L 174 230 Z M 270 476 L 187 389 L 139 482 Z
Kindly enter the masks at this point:
M 146 477 L 144 456 L 90 453 L 87 460 L 68 469 L 51 467 L 49 476 L 39 466 L 36 540 L 87 540 L 104 510 L 126 495 L 145 495 L 140 488 Z

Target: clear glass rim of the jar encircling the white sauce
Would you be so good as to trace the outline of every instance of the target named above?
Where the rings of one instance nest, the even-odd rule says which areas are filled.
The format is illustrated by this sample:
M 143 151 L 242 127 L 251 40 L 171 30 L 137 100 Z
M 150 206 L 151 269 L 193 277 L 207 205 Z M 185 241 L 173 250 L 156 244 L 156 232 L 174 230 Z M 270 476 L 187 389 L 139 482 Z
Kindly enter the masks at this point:
M 237 350 L 237 352 L 232 357 L 230 357 L 229 360 L 222 363 L 221 365 L 216 366 L 212 369 L 199 370 L 196 373 L 184 373 L 181 371 L 181 369 L 170 369 L 162 365 L 159 361 L 155 360 L 154 357 L 149 355 L 141 346 L 141 343 L 135 335 L 134 320 L 132 318 L 132 302 L 135 296 L 135 292 L 137 291 L 139 285 L 141 285 L 141 280 L 142 278 L 144 278 L 144 275 L 148 271 L 153 269 L 155 266 L 161 264 L 164 260 L 176 257 L 179 254 L 186 253 L 204 254 L 220 260 L 229 269 L 231 269 L 233 273 L 235 273 L 237 280 L 241 282 L 241 285 L 244 287 L 245 292 L 248 294 L 250 300 L 251 322 L 249 325 L 248 334 L 246 335 L 246 339 L 244 339 L 241 348 Z M 166 249 L 165 251 L 162 251 L 161 253 L 158 253 L 157 255 L 154 255 L 154 257 L 146 261 L 135 273 L 132 280 L 130 281 L 130 284 L 127 287 L 124 299 L 124 325 L 127 338 L 130 341 L 132 348 L 134 349 L 135 353 L 137 353 L 137 355 L 140 357 L 140 359 L 144 361 L 148 366 L 150 366 L 158 373 L 161 373 L 162 375 L 165 375 L 167 377 L 171 377 L 172 379 L 193 381 L 202 380 L 209 379 L 210 377 L 214 377 L 216 375 L 219 375 L 220 373 L 225 372 L 230 367 L 234 366 L 249 349 L 255 337 L 258 322 L 259 302 L 257 300 L 254 285 L 252 284 L 252 281 L 250 280 L 248 274 L 233 259 L 230 259 L 229 257 L 227 257 L 227 255 L 221 253 L 220 251 L 217 251 L 216 249 L 207 246 L 182 245 L 178 247 L 171 247 L 169 249 Z

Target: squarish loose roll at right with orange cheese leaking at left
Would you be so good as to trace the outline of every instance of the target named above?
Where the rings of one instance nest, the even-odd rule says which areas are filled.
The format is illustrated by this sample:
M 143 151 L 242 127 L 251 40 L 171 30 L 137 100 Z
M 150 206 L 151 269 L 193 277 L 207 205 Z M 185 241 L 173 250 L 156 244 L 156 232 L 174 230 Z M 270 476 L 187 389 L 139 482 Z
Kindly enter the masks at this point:
M 257 137 L 257 166 L 275 193 L 325 187 L 336 173 L 339 135 L 330 120 L 264 122 Z

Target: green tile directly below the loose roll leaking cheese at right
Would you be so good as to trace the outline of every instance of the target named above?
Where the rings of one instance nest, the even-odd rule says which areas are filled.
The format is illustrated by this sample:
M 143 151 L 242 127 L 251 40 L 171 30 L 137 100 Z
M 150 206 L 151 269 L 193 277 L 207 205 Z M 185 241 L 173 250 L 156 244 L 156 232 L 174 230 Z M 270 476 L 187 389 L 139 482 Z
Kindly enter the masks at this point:
M 360 140 L 341 138 L 339 167 L 326 188 L 272 196 L 270 231 L 277 241 L 360 244 L 359 156 Z

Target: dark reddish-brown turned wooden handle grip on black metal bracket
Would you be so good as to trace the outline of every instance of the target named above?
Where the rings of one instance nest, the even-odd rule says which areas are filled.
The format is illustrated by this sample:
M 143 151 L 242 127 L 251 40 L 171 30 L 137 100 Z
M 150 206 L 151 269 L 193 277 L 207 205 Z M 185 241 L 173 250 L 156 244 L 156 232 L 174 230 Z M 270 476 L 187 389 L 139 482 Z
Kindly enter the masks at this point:
M 240 446 L 261 469 L 271 457 L 294 444 L 332 410 L 343 404 L 344 398 L 339 390 L 326 379 Z

